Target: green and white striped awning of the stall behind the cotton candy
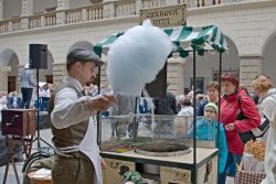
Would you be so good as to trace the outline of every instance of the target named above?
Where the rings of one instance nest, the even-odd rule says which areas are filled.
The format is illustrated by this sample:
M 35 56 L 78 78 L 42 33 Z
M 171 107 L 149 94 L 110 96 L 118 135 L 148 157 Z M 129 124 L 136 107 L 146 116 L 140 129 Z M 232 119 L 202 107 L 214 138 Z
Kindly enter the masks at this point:
M 220 53 L 227 50 L 225 36 L 215 25 L 199 28 L 178 26 L 163 29 L 163 31 L 170 36 L 171 42 L 177 45 L 173 52 L 180 52 L 181 56 L 187 56 L 188 52 L 193 48 L 200 54 L 203 54 L 206 50 L 215 50 Z M 105 48 L 108 48 L 123 34 L 124 32 L 113 34 L 95 44 L 95 53 L 100 55 Z

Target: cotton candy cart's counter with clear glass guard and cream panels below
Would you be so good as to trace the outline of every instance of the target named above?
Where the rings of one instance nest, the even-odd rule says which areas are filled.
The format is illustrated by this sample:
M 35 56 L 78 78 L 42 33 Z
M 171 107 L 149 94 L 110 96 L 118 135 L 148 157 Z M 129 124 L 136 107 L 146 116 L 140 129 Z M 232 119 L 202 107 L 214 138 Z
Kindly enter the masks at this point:
M 129 165 L 129 171 L 137 171 L 145 177 L 158 178 L 161 183 L 195 183 L 193 177 L 197 176 L 197 183 L 202 184 L 205 175 L 212 178 L 213 182 L 210 183 L 216 182 L 215 141 L 197 141 L 197 158 L 193 159 L 193 117 L 109 116 L 102 118 L 100 125 L 100 155 L 110 161 L 104 172 L 112 181 L 106 183 L 113 183 L 115 177 L 119 177 L 124 165 Z M 214 128 L 197 129 L 197 132 L 215 132 Z M 211 174 L 205 172 L 209 161 L 213 165 Z

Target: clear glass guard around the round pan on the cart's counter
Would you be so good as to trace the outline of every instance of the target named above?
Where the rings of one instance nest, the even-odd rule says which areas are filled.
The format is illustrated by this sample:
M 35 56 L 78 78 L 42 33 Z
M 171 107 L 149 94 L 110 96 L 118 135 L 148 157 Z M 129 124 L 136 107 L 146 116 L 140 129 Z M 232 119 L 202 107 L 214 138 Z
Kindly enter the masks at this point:
M 188 138 L 190 117 L 158 115 L 109 116 L 102 118 L 100 150 L 117 151 L 118 148 L 135 150 L 139 154 L 173 156 L 191 152 Z M 126 149 L 127 148 L 127 149 Z M 132 149 L 131 149 L 132 148 Z M 121 151 L 121 150 L 120 150 Z

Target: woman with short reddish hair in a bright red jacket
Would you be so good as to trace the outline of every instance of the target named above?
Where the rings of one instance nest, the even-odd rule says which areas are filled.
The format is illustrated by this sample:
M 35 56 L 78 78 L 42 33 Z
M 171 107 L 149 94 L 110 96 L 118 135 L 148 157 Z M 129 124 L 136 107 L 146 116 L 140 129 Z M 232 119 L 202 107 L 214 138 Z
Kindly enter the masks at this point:
M 240 164 L 244 152 L 244 144 L 238 137 L 238 132 L 246 132 L 258 127 L 261 119 L 255 102 L 244 90 L 241 90 L 238 80 L 233 74 L 222 74 L 221 82 L 223 90 L 221 122 L 225 128 L 229 149 L 227 162 L 223 173 L 226 177 L 227 169 L 233 164 Z M 240 109 L 238 98 L 242 109 Z M 246 118 L 237 120 L 236 117 L 241 111 Z

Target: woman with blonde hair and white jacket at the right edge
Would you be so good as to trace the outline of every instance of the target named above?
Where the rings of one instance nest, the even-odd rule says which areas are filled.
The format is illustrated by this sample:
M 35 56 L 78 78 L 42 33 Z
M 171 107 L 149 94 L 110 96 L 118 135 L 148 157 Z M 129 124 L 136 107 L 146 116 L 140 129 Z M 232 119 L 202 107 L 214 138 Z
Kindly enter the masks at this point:
M 266 178 L 262 184 L 276 183 L 276 89 L 269 78 L 259 76 L 252 83 L 256 95 L 259 96 L 258 111 L 270 121 L 265 151 Z

